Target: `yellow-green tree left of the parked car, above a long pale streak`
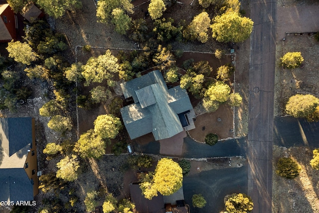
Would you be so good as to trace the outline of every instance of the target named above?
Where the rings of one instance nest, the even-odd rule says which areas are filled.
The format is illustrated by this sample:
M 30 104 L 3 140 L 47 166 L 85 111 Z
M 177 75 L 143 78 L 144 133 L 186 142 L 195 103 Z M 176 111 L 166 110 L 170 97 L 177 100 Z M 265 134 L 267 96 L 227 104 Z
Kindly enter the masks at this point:
M 80 135 L 75 143 L 74 151 L 79 153 L 81 158 L 100 158 L 105 154 L 105 148 L 105 141 L 93 129 L 90 129 Z

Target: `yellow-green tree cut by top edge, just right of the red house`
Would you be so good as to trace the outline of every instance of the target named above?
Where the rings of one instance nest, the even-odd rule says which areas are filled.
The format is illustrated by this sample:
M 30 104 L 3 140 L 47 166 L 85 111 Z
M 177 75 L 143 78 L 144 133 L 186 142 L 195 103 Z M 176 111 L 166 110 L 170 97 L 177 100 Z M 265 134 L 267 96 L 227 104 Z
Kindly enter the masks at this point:
M 82 7 L 80 0 L 37 0 L 36 3 L 46 14 L 54 18 L 62 17 L 66 9 Z

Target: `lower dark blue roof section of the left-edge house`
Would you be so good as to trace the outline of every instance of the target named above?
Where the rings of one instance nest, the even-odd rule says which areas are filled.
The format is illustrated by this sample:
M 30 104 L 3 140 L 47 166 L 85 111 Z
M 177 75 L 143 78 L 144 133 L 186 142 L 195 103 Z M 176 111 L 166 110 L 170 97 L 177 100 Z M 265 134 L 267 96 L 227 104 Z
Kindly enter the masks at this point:
M 33 186 L 23 168 L 0 169 L 0 201 L 33 201 Z

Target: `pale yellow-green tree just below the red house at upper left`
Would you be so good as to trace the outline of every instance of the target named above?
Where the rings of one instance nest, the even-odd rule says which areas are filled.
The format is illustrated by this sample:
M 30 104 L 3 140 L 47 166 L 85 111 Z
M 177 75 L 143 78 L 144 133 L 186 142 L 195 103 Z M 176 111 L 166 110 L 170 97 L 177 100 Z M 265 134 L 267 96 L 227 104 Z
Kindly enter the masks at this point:
M 37 55 L 32 50 L 29 44 L 21 43 L 20 41 L 11 41 L 8 43 L 6 50 L 9 52 L 9 57 L 14 58 L 16 62 L 30 65 L 32 61 L 37 59 Z

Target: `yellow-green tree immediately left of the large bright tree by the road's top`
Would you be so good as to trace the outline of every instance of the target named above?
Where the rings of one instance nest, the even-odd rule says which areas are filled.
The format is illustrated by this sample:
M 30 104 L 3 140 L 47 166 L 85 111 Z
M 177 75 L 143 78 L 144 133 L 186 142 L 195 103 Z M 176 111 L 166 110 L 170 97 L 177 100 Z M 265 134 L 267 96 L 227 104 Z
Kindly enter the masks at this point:
M 201 12 L 196 15 L 183 32 L 183 36 L 189 40 L 195 40 L 205 43 L 208 40 L 208 27 L 210 18 L 207 12 Z

